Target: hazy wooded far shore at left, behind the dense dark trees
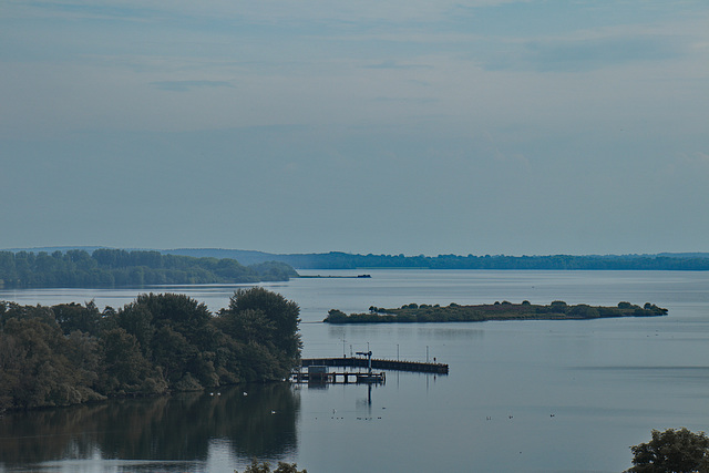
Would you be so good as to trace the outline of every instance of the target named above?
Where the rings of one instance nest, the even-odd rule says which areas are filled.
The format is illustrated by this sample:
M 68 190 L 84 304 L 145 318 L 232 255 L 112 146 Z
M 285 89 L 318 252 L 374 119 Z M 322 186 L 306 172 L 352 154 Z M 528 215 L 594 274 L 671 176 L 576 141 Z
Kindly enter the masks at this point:
M 195 258 L 160 251 L 82 249 L 0 251 L 0 288 L 121 287 L 284 281 L 298 277 L 280 261 L 243 266 L 229 258 Z

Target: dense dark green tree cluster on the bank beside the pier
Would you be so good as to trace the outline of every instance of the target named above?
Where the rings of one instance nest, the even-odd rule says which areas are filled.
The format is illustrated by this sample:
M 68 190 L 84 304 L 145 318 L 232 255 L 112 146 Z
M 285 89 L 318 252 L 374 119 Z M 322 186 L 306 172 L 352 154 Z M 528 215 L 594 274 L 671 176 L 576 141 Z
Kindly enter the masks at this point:
M 216 315 L 176 294 L 119 310 L 0 302 L 0 411 L 280 380 L 300 357 L 299 308 L 256 287 Z

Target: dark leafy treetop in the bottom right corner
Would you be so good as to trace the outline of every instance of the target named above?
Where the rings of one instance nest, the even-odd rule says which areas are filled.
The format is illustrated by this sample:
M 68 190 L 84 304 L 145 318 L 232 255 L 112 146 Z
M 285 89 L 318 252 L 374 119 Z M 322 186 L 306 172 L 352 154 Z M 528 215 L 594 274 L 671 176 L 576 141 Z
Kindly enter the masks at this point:
M 709 473 L 709 438 L 703 432 L 653 430 L 653 440 L 630 451 L 634 466 L 626 473 Z

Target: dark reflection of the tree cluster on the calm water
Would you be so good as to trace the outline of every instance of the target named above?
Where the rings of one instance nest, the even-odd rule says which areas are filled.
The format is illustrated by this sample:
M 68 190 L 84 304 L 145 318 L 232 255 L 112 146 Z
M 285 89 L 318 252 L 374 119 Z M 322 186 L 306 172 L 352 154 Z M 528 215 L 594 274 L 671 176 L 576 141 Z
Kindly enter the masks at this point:
M 8 413 L 0 418 L 0 466 L 96 455 L 205 461 L 215 441 L 240 459 L 285 457 L 296 449 L 299 405 L 288 383 L 274 383 Z

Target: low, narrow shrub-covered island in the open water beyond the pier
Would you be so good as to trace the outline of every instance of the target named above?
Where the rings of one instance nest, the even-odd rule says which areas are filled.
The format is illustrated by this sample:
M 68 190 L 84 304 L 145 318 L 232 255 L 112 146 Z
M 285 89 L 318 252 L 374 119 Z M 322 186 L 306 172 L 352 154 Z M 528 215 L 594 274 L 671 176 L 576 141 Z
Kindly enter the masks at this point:
M 349 316 L 339 309 L 331 309 L 323 321 L 328 323 L 480 322 L 485 320 L 579 320 L 664 315 L 667 315 L 667 309 L 649 302 L 643 307 L 630 302 L 618 302 L 616 307 L 600 307 L 585 304 L 569 306 L 563 300 L 555 300 L 545 306 L 534 305 L 527 300 L 522 304 L 504 300 L 476 306 L 409 304 L 398 309 L 371 306 L 369 312 L 350 313 Z

